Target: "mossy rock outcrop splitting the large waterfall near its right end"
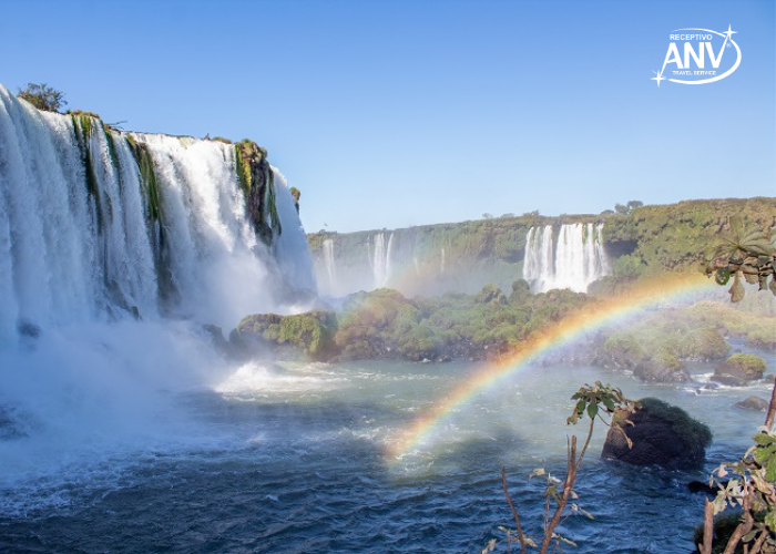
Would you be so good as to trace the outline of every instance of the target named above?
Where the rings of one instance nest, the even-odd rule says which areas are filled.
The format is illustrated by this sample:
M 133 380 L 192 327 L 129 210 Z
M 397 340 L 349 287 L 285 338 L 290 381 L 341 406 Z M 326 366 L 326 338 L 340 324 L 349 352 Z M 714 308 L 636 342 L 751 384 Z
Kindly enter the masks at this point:
M 258 237 L 272 244 L 274 233 L 283 233 L 275 203 L 275 174 L 267 162 L 267 151 L 245 138 L 235 144 L 237 176 L 245 196 L 247 215 Z

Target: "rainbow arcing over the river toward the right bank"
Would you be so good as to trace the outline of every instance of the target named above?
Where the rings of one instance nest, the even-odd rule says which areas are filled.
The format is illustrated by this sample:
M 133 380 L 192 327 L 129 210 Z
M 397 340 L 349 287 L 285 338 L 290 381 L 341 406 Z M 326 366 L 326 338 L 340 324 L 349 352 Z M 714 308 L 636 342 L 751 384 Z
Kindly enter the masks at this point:
M 538 356 L 569 345 L 591 331 L 633 317 L 640 311 L 665 302 L 676 302 L 683 297 L 688 298 L 712 289 L 718 290 L 718 287 L 701 275 L 672 276 L 639 284 L 614 298 L 585 307 L 521 343 L 520 350 L 506 361 L 480 368 L 466 382 L 453 389 L 446 399 L 435 404 L 408 427 L 396 432 L 388 441 L 388 459 L 400 460 L 419 445 L 432 443 L 437 430 L 445 425 L 452 413 L 459 411 L 479 393 L 524 368 Z

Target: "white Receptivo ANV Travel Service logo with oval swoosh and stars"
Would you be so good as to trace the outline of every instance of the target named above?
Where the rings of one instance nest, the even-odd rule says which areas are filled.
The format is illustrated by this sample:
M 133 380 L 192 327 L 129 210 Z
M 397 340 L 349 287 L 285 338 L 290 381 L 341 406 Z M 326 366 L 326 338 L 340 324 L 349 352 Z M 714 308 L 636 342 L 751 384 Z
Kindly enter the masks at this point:
M 729 76 L 741 65 L 741 48 L 733 40 L 736 31 L 718 33 L 709 29 L 676 29 L 668 35 L 660 73 L 653 71 L 652 81 L 678 84 L 708 84 Z M 677 45 L 678 44 L 678 45 Z M 733 60 L 733 48 L 736 57 Z M 726 54 L 731 52 L 731 54 Z M 724 58 L 724 60 L 723 60 Z

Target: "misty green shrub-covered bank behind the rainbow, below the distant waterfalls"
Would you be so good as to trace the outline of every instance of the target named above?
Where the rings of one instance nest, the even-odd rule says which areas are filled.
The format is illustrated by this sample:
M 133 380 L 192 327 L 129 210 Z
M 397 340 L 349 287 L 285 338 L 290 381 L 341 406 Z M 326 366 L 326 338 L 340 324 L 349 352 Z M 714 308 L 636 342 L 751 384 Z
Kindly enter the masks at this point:
M 569 290 L 531 295 L 524 281 L 509 298 L 494 285 L 412 300 L 379 289 L 346 301 L 336 341 L 344 358 L 497 358 L 591 301 Z

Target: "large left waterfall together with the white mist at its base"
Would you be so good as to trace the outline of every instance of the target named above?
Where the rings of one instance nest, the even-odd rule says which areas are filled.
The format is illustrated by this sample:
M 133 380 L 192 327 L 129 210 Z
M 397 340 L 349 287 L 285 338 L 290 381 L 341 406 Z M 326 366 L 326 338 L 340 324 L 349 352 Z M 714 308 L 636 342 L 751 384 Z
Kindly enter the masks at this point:
M 0 85 L 4 484 L 195 440 L 175 394 L 232 371 L 202 324 L 228 334 L 245 315 L 302 309 L 316 289 L 277 170 L 283 230 L 267 247 L 245 213 L 234 146 L 112 131 L 112 148 L 92 121 L 80 145 L 71 116 L 40 112 Z M 153 160 L 160 222 L 127 137 Z M 9 435 L 21 439 L 1 440 Z

